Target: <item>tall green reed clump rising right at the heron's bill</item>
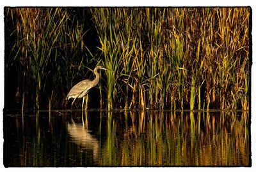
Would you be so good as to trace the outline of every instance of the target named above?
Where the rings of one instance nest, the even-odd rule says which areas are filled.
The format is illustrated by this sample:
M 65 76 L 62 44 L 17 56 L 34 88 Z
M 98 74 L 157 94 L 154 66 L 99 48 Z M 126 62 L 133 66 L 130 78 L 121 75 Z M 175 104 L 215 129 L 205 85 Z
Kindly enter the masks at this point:
M 106 71 L 107 76 L 107 98 L 108 110 L 113 108 L 113 101 L 116 93 L 116 82 L 120 75 L 120 62 L 122 56 L 122 35 L 120 35 L 118 28 L 120 24 L 114 24 L 114 20 L 118 20 L 122 9 L 104 10 L 92 9 L 93 19 L 97 25 L 97 32 L 99 34 L 100 46 L 99 50 L 102 52 L 104 58 L 103 64 L 110 71 Z M 97 14 L 97 15 L 96 15 Z

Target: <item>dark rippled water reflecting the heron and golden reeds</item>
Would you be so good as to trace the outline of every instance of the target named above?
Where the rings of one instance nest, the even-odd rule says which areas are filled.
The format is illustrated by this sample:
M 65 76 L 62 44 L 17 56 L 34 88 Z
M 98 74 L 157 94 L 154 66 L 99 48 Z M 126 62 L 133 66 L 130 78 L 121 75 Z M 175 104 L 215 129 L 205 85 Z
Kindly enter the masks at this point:
M 250 166 L 247 112 L 4 111 L 4 166 Z

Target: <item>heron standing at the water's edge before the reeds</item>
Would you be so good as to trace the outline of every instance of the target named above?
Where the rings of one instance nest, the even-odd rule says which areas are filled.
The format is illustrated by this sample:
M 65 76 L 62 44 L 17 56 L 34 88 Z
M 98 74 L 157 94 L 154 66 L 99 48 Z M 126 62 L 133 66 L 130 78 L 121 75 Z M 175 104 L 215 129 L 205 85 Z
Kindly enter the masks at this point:
M 95 85 L 97 85 L 97 83 L 99 83 L 99 80 L 100 80 L 100 75 L 98 73 L 99 69 L 109 70 L 109 69 L 103 68 L 102 66 L 97 66 L 93 70 L 93 73 L 96 76 L 95 79 L 94 80 L 83 80 L 83 81 L 77 83 L 74 87 L 72 87 L 70 92 L 68 92 L 68 96 L 66 99 L 74 98 L 74 101 L 75 101 L 76 98 L 83 97 L 83 103 L 82 103 L 82 109 L 83 109 L 84 98 L 85 98 L 86 94 L 88 93 L 88 91 L 90 89 L 92 89 L 92 87 L 95 87 Z M 73 106 L 74 101 L 72 102 L 71 106 Z

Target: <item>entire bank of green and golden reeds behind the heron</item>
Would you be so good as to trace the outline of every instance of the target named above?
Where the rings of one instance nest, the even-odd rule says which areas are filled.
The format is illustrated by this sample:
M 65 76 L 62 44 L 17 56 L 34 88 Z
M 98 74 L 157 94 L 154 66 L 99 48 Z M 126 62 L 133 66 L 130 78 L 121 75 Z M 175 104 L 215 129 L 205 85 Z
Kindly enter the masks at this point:
M 4 108 L 70 108 L 101 64 L 88 108 L 249 110 L 250 11 L 6 7 Z

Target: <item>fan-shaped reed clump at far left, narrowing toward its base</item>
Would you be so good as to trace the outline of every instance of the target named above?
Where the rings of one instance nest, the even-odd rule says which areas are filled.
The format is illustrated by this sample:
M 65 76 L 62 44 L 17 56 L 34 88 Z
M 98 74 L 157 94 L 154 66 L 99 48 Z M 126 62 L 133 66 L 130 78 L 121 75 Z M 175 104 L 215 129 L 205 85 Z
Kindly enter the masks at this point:
M 35 81 L 35 107 L 37 109 L 40 108 L 40 94 L 42 91 L 44 92 L 45 81 L 47 80 L 46 67 L 51 58 L 52 48 L 56 45 L 60 27 L 67 20 L 67 14 L 64 13 L 63 18 L 58 18 L 58 22 L 54 21 L 59 10 L 58 8 L 55 10 L 33 8 L 17 10 L 24 31 L 22 41 L 24 41 L 26 50 L 29 52 L 29 75 Z M 38 19 L 42 15 L 45 15 L 45 20 Z

